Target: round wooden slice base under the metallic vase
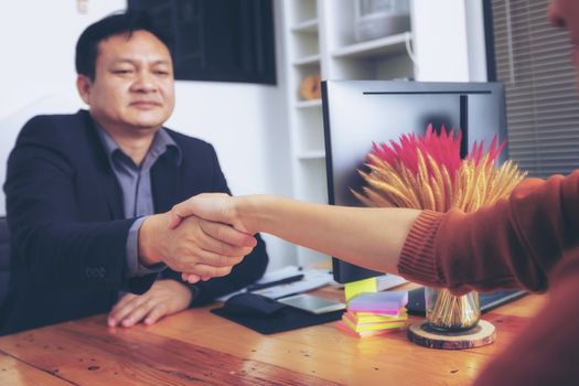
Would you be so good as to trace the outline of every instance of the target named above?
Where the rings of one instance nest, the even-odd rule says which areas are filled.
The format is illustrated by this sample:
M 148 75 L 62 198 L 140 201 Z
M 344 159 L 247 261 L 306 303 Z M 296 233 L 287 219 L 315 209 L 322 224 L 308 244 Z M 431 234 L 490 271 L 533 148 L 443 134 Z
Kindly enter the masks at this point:
M 410 342 L 430 349 L 461 350 L 480 347 L 494 342 L 496 337 L 494 325 L 485 320 L 479 321 L 476 326 L 459 332 L 440 332 L 426 321 L 410 324 L 408 339 Z

